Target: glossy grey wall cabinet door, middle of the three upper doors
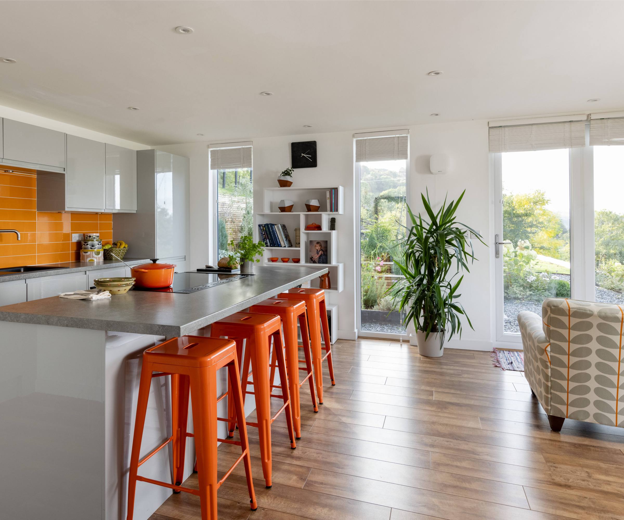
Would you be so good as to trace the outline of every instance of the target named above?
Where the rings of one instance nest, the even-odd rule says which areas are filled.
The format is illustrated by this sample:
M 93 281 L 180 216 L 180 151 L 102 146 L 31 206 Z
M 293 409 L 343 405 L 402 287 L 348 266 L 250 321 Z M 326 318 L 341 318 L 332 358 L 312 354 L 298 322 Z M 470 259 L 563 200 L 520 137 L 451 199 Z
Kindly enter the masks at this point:
M 66 207 L 77 211 L 104 211 L 106 145 L 67 135 Z

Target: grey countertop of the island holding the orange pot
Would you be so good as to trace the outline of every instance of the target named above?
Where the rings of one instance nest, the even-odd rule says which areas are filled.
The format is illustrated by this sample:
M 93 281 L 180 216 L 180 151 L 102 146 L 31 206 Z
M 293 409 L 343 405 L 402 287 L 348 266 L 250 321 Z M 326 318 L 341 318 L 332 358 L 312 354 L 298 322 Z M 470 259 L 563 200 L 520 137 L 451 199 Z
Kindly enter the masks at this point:
M 105 300 L 43 298 L 0 307 L 2 321 L 173 338 L 328 272 L 326 267 L 254 267 L 255 275 L 190 294 L 130 290 Z

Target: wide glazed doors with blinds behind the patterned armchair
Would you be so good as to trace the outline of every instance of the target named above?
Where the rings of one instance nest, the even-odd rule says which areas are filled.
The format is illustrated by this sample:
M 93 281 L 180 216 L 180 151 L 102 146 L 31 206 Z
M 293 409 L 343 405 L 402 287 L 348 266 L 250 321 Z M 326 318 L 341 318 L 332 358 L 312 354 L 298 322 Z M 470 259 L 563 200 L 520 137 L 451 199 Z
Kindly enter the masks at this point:
M 490 124 L 498 340 L 547 297 L 624 303 L 624 117 L 575 119 Z

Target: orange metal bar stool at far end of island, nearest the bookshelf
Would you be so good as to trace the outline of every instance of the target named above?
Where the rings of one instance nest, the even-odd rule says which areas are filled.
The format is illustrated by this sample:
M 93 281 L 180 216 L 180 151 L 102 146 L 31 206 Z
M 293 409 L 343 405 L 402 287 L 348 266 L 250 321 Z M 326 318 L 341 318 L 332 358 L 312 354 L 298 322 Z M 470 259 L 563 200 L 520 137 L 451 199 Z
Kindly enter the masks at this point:
M 327 320 L 327 307 L 323 289 L 293 288 L 277 295 L 283 300 L 303 300 L 308 310 L 310 324 L 310 340 L 312 343 L 312 361 L 314 363 L 314 380 L 316 381 L 316 395 L 319 404 L 323 404 L 323 361 L 327 360 L 329 378 L 335 385 L 334 364 L 331 361 L 331 339 Z M 321 326 L 323 331 L 323 348 L 321 348 Z M 323 351 L 325 355 L 323 355 Z

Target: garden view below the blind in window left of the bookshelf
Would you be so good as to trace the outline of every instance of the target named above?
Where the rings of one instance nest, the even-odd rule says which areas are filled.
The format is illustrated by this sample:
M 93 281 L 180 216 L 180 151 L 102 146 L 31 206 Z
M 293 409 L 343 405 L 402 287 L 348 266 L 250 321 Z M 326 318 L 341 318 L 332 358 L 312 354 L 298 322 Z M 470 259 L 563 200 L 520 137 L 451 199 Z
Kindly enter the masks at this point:
M 253 234 L 253 170 L 217 170 L 218 258 L 232 250 L 230 241 Z

